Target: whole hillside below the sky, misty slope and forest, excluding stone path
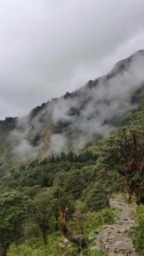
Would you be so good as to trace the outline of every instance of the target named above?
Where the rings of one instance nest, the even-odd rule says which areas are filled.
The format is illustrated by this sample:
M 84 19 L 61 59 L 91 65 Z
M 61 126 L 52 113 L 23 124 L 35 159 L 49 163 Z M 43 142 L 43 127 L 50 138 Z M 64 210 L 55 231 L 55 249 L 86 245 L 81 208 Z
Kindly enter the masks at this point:
M 119 196 L 138 207 L 136 252 L 124 253 L 144 254 L 143 63 L 138 51 L 28 116 L 0 121 L 2 256 L 112 255 L 95 239 L 117 224 Z

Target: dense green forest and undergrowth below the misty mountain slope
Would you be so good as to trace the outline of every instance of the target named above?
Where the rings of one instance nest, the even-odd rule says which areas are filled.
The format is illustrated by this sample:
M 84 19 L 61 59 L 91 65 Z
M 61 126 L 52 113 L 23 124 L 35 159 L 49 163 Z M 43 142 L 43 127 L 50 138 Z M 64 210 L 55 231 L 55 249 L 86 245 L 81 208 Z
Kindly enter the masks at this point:
M 1 177 L 1 255 L 101 255 L 90 251 L 89 238 L 103 221 L 114 222 L 109 198 L 122 193 L 144 204 L 143 156 L 144 121 L 138 118 L 80 155 L 62 152 L 10 170 Z M 139 211 L 135 243 L 142 252 L 143 206 Z M 62 213 L 69 221 L 64 231 Z

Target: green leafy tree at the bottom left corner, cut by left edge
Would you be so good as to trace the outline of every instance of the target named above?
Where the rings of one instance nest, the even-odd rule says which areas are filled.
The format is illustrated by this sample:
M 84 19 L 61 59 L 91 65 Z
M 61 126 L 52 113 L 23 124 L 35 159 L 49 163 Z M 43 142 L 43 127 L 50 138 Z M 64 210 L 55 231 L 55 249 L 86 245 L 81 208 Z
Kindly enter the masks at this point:
M 12 191 L 0 195 L 0 246 L 3 252 L 12 242 L 18 244 L 23 236 L 22 224 L 29 212 L 30 200 L 24 194 Z

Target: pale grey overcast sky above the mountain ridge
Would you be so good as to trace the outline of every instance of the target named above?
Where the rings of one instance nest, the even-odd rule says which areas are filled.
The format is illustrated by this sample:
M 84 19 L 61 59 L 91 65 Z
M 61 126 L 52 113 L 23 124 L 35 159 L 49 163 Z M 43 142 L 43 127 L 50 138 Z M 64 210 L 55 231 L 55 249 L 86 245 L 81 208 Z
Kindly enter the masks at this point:
M 0 0 L 0 119 L 144 49 L 144 0 Z

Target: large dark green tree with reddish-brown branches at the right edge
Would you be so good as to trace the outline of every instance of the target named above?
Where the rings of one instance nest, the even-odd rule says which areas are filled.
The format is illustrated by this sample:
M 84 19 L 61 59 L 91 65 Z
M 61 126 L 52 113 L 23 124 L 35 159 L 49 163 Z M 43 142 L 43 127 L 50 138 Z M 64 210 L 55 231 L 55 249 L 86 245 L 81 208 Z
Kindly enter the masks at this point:
M 133 122 L 104 139 L 99 156 L 103 172 L 119 173 L 121 189 L 129 192 L 130 197 L 135 193 L 138 203 L 144 203 L 144 121 Z

